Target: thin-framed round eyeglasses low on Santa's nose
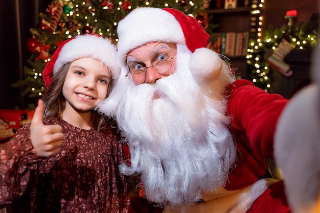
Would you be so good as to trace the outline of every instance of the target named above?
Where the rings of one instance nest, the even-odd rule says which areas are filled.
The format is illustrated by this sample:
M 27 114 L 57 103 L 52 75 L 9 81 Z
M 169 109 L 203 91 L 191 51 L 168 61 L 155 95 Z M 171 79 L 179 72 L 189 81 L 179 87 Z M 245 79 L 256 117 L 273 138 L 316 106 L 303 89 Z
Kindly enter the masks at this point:
M 126 77 L 134 83 L 140 83 L 146 79 L 147 68 L 150 67 L 153 67 L 159 74 L 168 73 L 172 67 L 172 59 L 174 58 L 170 58 L 167 54 L 162 53 L 156 56 L 151 66 L 142 66 L 139 63 L 127 64 L 129 70 Z

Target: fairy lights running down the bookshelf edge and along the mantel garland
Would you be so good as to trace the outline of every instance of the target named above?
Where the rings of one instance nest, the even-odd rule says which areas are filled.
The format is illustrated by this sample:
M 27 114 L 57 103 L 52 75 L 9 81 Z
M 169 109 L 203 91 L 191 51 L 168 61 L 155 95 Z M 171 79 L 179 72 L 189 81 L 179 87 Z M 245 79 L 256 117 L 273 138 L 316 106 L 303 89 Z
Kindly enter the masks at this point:
M 264 0 L 253 0 L 252 23 L 250 32 L 255 33 L 249 42 L 246 60 L 249 66 L 249 77 L 252 82 L 270 92 L 271 81 L 269 73 L 271 66 L 264 59 L 265 51 L 276 50 L 282 39 L 286 39 L 293 48 L 303 50 L 314 48 L 317 41 L 318 26 L 312 23 L 299 23 L 298 25 L 284 25 L 280 29 L 270 30 L 262 33 Z

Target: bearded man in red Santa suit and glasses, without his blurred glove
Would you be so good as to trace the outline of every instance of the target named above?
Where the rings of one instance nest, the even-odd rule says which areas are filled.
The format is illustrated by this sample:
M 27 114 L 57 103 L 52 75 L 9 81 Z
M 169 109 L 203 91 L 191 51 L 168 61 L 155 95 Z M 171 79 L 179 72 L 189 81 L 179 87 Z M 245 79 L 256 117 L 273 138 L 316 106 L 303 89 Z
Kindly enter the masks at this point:
M 175 9 L 140 8 L 118 26 L 119 80 L 98 109 L 114 116 L 130 149 L 126 175 L 141 174 L 164 212 L 289 212 L 265 155 L 287 103 L 235 80 L 209 35 Z

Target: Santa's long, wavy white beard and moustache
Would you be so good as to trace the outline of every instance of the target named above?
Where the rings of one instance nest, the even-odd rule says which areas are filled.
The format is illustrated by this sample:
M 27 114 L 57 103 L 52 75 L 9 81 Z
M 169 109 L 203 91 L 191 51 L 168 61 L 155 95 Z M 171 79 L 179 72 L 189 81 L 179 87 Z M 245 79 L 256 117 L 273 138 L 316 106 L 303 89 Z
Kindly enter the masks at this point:
M 201 93 L 188 68 L 190 53 L 178 49 L 178 56 L 177 72 L 155 84 L 136 86 L 122 70 L 99 106 L 116 116 L 128 141 L 131 165 L 122 164 L 122 173 L 140 173 L 146 197 L 159 204 L 193 203 L 224 186 L 236 156 L 226 101 Z M 155 92 L 162 98 L 153 99 Z

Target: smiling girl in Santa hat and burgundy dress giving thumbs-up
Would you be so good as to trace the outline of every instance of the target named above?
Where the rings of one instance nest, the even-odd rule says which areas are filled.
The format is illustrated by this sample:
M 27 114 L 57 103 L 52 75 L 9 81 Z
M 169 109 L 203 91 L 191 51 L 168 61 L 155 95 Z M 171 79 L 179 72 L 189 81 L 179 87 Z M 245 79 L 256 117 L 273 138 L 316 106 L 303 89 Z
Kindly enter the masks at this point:
M 120 72 L 98 35 L 63 42 L 43 70 L 31 125 L 0 147 L 0 205 L 13 212 L 127 212 L 122 145 L 95 111 Z M 43 118 L 44 114 L 44 119 Z

